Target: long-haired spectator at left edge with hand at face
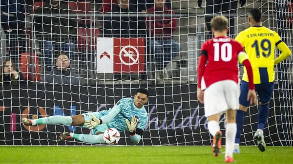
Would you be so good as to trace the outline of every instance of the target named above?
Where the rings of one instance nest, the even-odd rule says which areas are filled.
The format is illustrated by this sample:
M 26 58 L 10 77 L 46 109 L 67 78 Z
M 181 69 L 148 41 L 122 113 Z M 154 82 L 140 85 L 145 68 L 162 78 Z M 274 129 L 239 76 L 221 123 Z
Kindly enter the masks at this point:
M 18 85 L 24 82 L 23 75 L 15 68 L 15 64 L 11 59 L 5 59 L 0 70 L 0 83 L 9 83 Z

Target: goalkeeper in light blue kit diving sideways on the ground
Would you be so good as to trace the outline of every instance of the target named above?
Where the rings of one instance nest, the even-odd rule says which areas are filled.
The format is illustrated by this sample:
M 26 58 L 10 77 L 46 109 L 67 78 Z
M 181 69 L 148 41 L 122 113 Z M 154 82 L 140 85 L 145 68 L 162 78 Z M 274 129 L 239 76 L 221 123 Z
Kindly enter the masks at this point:
M 63 132 L 60 135 L 61 141 L 74 138 L 89 144 L 105 144 L 103 134 L 107 128 L 116 128 L 119 132 L 129 130 L 132 143 L 137 145 L 141 140 L 148 120 L 144 107 L 147 101 L 148 91 L 140 88 L 136 91 L 134 99 L 122 98 L 109 110 L 88 112 L 76 116 L 49 116 L 35 120 L 22 118 L 21 122 L 24 126 L 61 124 L 93 129 L 94 135 L 71 132 Z

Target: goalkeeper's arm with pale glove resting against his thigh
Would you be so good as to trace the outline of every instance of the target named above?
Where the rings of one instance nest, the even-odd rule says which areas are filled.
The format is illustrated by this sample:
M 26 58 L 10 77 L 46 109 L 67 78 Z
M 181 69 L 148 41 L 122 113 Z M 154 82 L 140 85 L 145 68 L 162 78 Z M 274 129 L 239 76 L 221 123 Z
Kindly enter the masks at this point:
M 92 117 L 92 119 L 84 121 L 84 125 L 86 126 L 86 128 L 91 129 L 98 125 L 106 124 L 110 122 L 120 112 L 120 110 L 120 107 L 118 105 L 115 105 L 107 115 L 101 118 L 96 118 L 93 114 L 91 114 L 90 116 Z

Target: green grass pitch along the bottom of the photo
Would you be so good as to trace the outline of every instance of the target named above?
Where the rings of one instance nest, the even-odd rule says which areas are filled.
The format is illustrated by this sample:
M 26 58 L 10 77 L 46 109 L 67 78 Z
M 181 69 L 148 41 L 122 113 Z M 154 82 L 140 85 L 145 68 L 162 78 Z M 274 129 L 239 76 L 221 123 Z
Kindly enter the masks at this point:
M 240 147 L 237 164 L 292 164 L 293 147 Z M 224 151 L 224 150 L 222 150 Z M 0 146 L 0 164 L 224 164 L 210 146 Z

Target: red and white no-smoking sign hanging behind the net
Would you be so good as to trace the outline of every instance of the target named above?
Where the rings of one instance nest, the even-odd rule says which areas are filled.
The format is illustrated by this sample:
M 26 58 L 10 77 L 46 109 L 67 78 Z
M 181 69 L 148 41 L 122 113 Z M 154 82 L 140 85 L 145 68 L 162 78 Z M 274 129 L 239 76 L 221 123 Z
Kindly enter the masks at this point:
M 97 73 L 138 73 L 144 71 L 144 38 L 97 38 Z

